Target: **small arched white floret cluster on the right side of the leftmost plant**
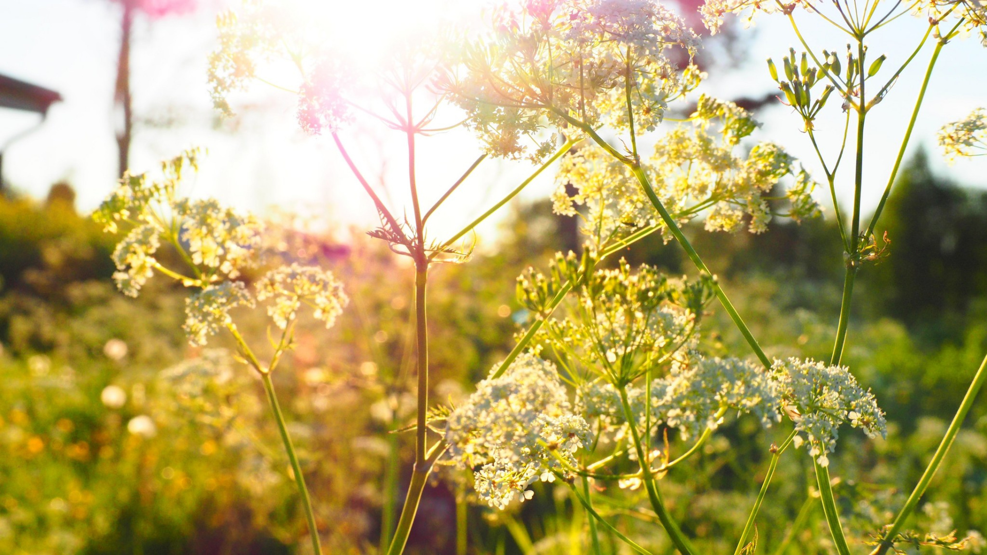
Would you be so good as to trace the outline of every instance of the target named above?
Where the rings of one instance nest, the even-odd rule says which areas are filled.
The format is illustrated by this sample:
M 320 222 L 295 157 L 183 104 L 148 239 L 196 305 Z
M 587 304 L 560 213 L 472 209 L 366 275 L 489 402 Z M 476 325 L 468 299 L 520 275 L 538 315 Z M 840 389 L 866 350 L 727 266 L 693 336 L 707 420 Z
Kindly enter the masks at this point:
M 316 267 L 291 266 L 268 272 L 257 282 L 257 298 L 272 299 L 267 314 L 278 328 L 284 329 L 302 303 L 312 306 L 317 320 L 332 328 L 349 298 L 332 272 Z

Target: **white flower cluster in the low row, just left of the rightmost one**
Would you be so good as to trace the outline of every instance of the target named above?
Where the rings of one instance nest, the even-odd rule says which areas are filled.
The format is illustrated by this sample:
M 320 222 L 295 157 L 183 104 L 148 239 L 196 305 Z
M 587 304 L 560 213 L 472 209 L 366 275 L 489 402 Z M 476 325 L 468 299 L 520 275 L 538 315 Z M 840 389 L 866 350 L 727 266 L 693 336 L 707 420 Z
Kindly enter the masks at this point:
M 768 372 L 739 358 L 697 357 L 675 364 L 651 384 L 655 416 L 683 439 L 716 430 L 721 409 L 736 409 L 761 419 L 765 427 L 780 422 L 779 385 Z

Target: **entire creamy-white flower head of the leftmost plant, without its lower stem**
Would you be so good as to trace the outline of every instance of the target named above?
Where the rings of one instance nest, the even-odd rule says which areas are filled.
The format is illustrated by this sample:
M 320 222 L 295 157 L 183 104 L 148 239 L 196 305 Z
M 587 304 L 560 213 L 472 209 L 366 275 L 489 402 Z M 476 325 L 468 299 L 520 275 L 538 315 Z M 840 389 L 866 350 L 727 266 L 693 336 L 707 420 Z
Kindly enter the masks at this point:
M 205 345 L 209 336 L 233 327 L 233 308 L 255 306 L 247 285 L 235 279 L 261 263 L 265 226 L 254 215 L 224 207 L 213 198 L 193 200 L 178 194 L 184 168 L 197 168 L 197 154 L 188 151 L 164 163 L 161 180 L 144 174 L 124 177 L 94 218 L 107 231 L 115 232 L 119 224 L 133 226 L 114 250 L 114 279 L 124 293 L 136 296 L 155 271 L 197 288 L 186 300 L 184 328 L 192 345 Z M 163 244 L 178 249 L 189 268 L 163 266 L 155 258 Z M 271 300 L 267 314 L 282 330 L 302 304 L 332 327 L 348 301 L 332 273 L 297 264 L 268 272 L 257 283 L 257 298 Z

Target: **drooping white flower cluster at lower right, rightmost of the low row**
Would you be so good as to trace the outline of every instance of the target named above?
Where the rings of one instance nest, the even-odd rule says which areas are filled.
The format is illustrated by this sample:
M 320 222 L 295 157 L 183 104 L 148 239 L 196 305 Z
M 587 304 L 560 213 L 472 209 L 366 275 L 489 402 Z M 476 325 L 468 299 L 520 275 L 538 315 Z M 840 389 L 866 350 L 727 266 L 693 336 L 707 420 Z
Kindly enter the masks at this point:
M 847 420 L 869 437 L 887 434 L 884 413 L 873 393 L 864 391 L 846 366 L 789 358 L 775 360 L 772 372 L 786 412 L 792 415 L 796 431 L 808 439 L 809 454 L 820 465 L 829 464 L 826 453 L 836 446 L 838 429 Z

